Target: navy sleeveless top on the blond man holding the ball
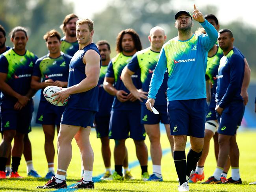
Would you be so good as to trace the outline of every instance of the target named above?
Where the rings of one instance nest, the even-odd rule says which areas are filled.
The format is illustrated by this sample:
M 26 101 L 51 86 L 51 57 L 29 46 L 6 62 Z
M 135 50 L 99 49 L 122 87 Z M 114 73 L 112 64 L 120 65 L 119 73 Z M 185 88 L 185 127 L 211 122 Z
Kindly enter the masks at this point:
M 90 49 L 95 50 L 95 52 L 100 55 L 100 52 L 94 43 L 85 46 L 82 50 L 78 50 L 72 57 L 69 64 L 68 87 L 76 85 L 86 78 L 83 55 Z M 96 86 L 86 92 L 70 95 L 67 108 L 98 111 L 98 89 L 98 86 Z

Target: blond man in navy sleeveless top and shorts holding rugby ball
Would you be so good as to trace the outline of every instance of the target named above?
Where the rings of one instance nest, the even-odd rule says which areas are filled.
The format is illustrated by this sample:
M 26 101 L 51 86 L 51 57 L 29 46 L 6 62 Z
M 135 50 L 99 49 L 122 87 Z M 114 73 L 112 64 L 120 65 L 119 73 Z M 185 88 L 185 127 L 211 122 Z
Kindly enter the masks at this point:
M 101 57 L 93 43 L 93 21 L 81 19 L 76 22 L 76 38 L 79 51 L 74 54 L 69 65 L 68 87 L 52 96 L 53 102 L 69 102 L 61 117 L 58 142 L 58 169 L 44 186 L 37 188 L 67 188 L 66 172 L 72 158 L 71 141 L 76 139 L 80 149 L 84 173 L 72 188 L 94 188 L 92 181 L 94 154 L 89 135 L 95 113 L 98 111 L 98 79 L 100 76 Z

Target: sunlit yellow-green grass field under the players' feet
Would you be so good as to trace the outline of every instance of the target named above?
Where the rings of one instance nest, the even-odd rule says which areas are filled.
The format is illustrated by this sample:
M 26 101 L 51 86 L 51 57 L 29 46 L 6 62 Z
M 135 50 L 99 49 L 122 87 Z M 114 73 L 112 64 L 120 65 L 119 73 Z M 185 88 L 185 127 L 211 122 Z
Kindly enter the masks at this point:
M 95 155 L 93 176 L 96 177 L 104 173 L 105 168 L 102 161 L 102 156 L 100 152 L 100 139 L 96 138 L 96 132 L 92 129 L 91 133 L 91 144 L 93 146 L 93 151 Z M 41 175 L 45 176 L 47 172 L 47 162 L 44 152 L 44 134 L 43 130 L 38 127 L 33 127 L 32 132 L 29 134 L 30 140 L 32 142 L 32 155 L 33 164 L 35 170 Z M 243 192 L 243 191 L 256 191 L 256 185 L 248 185 L 249 182 L 256 181 L 256 149 L 255 149 L 255 138 L 256 131 L 243 131 L 237 134 L 237 142 L 240 150 L 240 175 L 243 181 L 243 185 L 200 185 L 200 184 L 189 184 L 190 191 L 231 191 L 231 192 Z M 149 151 L 149 140 L 146 139 L 146 144 Z M 162 174 L 163 182 L 143 182 L 140 181 L 141 168 L 137 164 L 137 158 L 135 153 L 135 146 L 132 139 L 126 141 L 126 146 L 128 148 L 128 158 L 130 166 L 132 166 L 132 175 L 138 179 L 135 181 L 122 181 L 122 182 L 97 182 L 95 183 L 94 191 L 123 191 L 123 192 L 167 192 L 167 191 L 177 191 L 178 182 L 176 181 L 177 175 L 174 167 L 174 162 L 171 157 L 169 150 L 169 143 L 165 134 L 161 137 L 162 149 L 165 151 L 165 155 L 162 158 Z M 114 142 L 111 141 L 111 151 L 113 151 Z M 80 154 L 75 141 L 73 140 L 73 157 L 70 163 L 69 169 L 67 170 L 67 184 L 72 185 L 76 181 L 80 180 Z M 150 154 L 148 154 L 150 156 Z M 113 155 L 111 158 L 112 169 L 114 168 Z M 55 170 L 57 169 L 57 159 L 55 160 Z M 215 157 L 213 155 L 213 142 L 211 142 L 210 153 L 206 159 L 206 164 L 204 168 L 205 179 L 210 177 L 216 167 Z M 152 162 L 148 161 L 148 171 L 152 173 Z M 24 157 L 20 162 L 19 174 L 24 176 L 24 179 L 2 179 L 0 180 L 0 191 L 46 191 L 37 190 L 37 185 L 44 185 L 46 183 L 45 179 L 34 179 L 31 177 L 26 177 L 26 162 Z M 231 171 L 228 173 L 228 177 L 231 176 Z M 70 190 L 69 187 L 67 190 Z M 66 189 L 58 191 L 67 191 Z M 49 191 L 49 190 L 47 190 Z M 51 190 L 54 191 L 54 190 Z M 82 191 L 82 190 L 81 190 Z

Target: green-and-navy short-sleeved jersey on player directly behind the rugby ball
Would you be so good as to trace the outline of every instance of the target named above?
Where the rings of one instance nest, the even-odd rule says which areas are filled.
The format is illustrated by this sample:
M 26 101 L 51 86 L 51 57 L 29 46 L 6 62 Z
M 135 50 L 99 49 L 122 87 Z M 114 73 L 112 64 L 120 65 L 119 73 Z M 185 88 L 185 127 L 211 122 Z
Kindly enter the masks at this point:
M 61 52 L 57 58 L 52 58 L 49 54 L 37 59 L 33 69 L 32 76 L 42 78 L 42 82 L 47 79 L 53 81 L 68 81 L 69 79 L 69 63 L 71 56 Z M 46 101 L 43 90 L 41 90 L 41 101 Z

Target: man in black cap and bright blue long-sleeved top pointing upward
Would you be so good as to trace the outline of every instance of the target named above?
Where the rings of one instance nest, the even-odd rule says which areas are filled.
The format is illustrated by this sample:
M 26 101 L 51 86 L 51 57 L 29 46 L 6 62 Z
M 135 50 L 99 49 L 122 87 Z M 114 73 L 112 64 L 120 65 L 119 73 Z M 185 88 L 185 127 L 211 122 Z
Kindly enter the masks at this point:
M 202 154 L 208 108 L 205 85 L 207 53 L 217 39 L 217 31 L 195 5 L 193 13 L 193 18 L 204 27 L 207 34 L 192 33 L 193 18 L 188 11 L 176 13 L 175 27 L 178 29 L 178 37 L 163 45 L 146 102 L 147 109 L 152 111 L 156 93 L 167 68 L 167 109 L 171 135 L 174 135 L 173 158 L 180 181 L 179 191 L 189 191 L 187 182 L 190 172 Z M 187 135 L 190 136 L 191 149 L 186 162 Z

